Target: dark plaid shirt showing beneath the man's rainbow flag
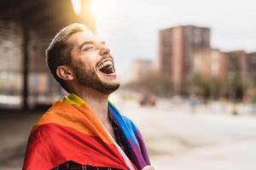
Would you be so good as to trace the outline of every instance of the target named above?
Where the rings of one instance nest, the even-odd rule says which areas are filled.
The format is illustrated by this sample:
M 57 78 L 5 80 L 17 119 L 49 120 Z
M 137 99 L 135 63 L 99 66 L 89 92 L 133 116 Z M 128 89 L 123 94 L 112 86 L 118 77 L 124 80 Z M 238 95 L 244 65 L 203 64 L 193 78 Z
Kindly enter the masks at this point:
M 131 149 L 129 148 L 127 141 L 125 139 L 125 134 L 118 127 L 117 122 L 114 121 L 111 114 L 108 114 L 109 120 L 113 126 L 113 133 L 116 139 L 116 143 L 119 144 L 120 148 L 125 152 L 126 156 L 130 158 L 130 160 L 134 163 L 135 158 L 131 153 Z M 58 167 L 53 168 L 52 170 L 118 170 L 117 168 L 111 167 L 92 167 L 90 165 L 81 165 L 75 161 L 67 161 L 62 163 Z

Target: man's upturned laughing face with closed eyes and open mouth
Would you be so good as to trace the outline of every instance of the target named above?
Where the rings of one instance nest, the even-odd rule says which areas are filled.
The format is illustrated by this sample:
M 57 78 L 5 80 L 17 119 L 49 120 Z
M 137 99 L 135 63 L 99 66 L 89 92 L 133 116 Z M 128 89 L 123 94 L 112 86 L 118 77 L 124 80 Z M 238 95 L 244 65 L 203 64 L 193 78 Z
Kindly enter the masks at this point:
M 102 94 L 111 94 L 119 88 L 119 80 L 113 65 L 113 56 L 90 31 L 82 31 L 69 37 L 73 44 L 72 68 L 78 83 L 94 88 Z

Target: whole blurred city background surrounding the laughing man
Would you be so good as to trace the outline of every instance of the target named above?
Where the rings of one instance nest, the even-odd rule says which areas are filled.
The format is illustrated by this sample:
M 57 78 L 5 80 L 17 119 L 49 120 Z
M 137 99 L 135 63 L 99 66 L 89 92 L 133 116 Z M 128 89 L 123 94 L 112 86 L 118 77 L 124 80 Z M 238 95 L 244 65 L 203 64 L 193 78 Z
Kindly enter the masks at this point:
M 256 167 L 253 0 L 2 0 L 0 169 L 21 169 L 30 130 L 65 92 L 44 50 L 73 22 L 107 42 L 122 81 L 110 100 L 160 170 Z

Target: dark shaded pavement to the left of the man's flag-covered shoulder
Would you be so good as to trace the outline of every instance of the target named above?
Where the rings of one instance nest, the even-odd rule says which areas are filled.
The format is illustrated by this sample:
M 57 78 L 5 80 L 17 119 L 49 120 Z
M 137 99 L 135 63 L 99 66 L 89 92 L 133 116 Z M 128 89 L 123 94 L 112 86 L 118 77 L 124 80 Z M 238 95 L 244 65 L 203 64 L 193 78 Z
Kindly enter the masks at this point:
M 33 124 L 42 113 L 0 113 L 0 170 L 21 169 Z

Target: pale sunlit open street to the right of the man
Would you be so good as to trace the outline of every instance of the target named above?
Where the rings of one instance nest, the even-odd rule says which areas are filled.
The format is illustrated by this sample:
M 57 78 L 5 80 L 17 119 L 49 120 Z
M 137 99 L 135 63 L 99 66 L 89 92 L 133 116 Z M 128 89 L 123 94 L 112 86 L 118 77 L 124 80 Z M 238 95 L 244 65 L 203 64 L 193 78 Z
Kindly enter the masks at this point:
M 156 169 L 254 170 L 256 116 L 232 116 L 220 104 L 197 107 L 193 113 L 184 103 L 154 108 L 131 102 L 123 111 L 140 127 Z

